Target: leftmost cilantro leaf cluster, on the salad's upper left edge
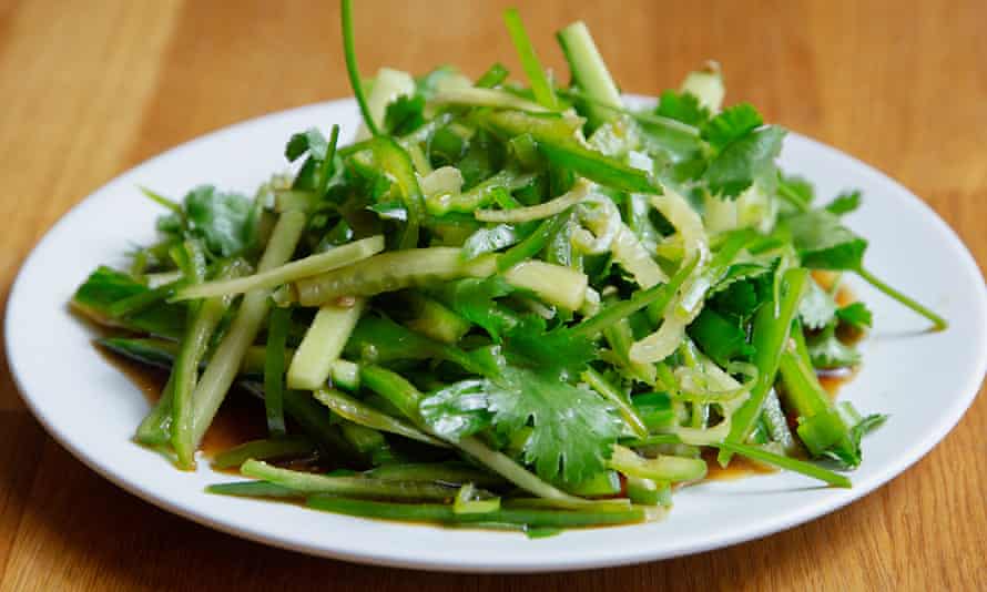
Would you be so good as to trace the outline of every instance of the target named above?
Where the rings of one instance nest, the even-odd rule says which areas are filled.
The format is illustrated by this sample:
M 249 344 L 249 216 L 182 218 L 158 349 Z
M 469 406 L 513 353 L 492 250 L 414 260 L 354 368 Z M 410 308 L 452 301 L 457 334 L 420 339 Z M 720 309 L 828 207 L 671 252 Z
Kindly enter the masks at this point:
M 182 238 L 197 238 L 214 257 L 232 257 L 253 244 L 258 210 L 238 193 L 200 185 L 185 195 L 183 213 L 157 218 L 157 229 Z

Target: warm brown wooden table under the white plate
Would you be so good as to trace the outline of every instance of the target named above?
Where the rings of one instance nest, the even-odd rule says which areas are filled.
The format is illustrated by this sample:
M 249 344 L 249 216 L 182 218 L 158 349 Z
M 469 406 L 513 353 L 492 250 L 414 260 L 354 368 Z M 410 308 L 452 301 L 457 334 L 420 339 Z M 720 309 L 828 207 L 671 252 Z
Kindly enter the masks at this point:
M 499 2 L 358 4 L 367 73 L 446 59 L 472 75 L 495 60 L 517 67 Z M 628 91 L 654 93 L 720 60 L 727 101 L 900 180 L 987 264 L 983 0 L 546 0 L 522 13 L 561 72 L 549 32 L 586 19 Z M 51 224 L 125 169 L 230 123 L 348 94 L 337 21 L 332 1 L 0 0 L 2 300 Z M 2 590 L 987 586 L 984 397 L 907 473 L 810 524 L 673 561 L 521 578 L 366 568 L 227 537 L 70 457 L 24 410 L 6 367 L 0 410 Z

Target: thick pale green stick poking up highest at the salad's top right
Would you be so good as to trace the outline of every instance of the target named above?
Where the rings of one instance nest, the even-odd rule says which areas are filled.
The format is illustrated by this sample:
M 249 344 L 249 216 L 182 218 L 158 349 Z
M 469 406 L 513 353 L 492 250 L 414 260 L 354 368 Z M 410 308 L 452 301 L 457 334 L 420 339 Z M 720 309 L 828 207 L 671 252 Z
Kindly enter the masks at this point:
M 620 91 L 617 90 L 617 84 L 613 83 L 586 23 L 574 22 L 559 31 L 556 37 L 579 88 L 591 99 L 607 106 L 623 108 Z M 597 109 L 594 105 L 589 105 L 587 111 L 590 124 L 594 127 L 610 121 L 614 115 L 612 110 Z

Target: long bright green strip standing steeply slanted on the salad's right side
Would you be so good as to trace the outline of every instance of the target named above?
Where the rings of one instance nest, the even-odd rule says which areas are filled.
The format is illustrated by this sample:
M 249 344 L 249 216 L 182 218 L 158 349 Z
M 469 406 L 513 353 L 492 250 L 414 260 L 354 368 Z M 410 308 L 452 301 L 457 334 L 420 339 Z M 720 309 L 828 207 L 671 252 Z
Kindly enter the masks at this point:
M 798 303 L 802 302 L 807 279 L 806 269 L 795 268 L 785 272 L 783 283 L 786 289 L 781 296 L 781 302 L 765 303 L 754 317 L 752 341 L 755 349 L 754 365 L 757 367 L 757 381 L 751 389 L 751 397 L 733 414 L 730 436 L 726 438 L 730 443 L 743 443 L 761 416 L 767 392 L 774 386 L 782 351 L 795 315 L 798 314 Z M 725 467 L 731 456 L 729 449 L 721 448 L 718 456 L 720 465 Z

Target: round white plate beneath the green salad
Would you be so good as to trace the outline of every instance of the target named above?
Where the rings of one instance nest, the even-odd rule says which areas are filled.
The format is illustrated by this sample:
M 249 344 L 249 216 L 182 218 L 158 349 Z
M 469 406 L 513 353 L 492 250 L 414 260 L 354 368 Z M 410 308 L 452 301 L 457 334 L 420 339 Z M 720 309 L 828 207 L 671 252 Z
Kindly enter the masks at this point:
M 306 553 L 365 563 L 454 571 L 551 571 L 637 563 L 756 539 L 835 510 L 905 470 L 936 445 L 977 394 L 987 365 L 987 298 L 973 257 L 907 190 L 861 162 L 797 134 L 785 141 L 786 171 L 817 183 L 824 197 L 864 191 L 849 225 L 872 241 L 867 265 L 894 286 L 953 320 L 927 323 L 862 282 L 874 309 L 864 366 L 843 390 L 862 412 L 891 414 L 865 442 L 851 490 L 825 489 L 796 474 L 710 482 L 675 494 L 659 523 L 570 531 L 540 540 L 503 532 L 449 530 L 320 513 L 302 507 L 211 496 L 230 481 L 200 462 L 173 469 L 131 441 L 147 410 L 143 395 L 93 349 L 89 327 L 65 303 L 99 264 L 122 264 L 133 243 L 154 237 L 162 212 L 138 184 L 182 195 L 208 182 L 252 192 L 286 169 L 289 134 L 312 125 L 355 131 L 352 101 L 275 113 L 171 150 L 109 183 L 67 214 L 28 258 L 7 312 L 10 367 L 24 400 L 48 431 L 90 468 L 141 498 L 240 537 Z

